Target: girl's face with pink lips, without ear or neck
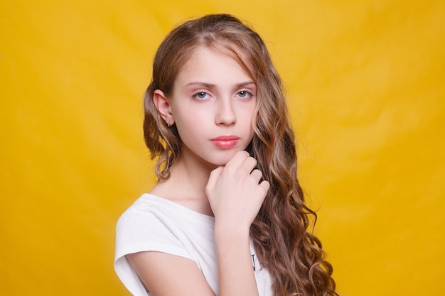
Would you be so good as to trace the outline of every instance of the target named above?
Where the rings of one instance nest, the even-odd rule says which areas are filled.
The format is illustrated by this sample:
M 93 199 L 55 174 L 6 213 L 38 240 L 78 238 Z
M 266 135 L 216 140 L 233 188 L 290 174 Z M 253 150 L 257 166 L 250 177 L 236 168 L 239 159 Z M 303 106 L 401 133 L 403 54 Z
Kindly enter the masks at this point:
M 171 119 L 183 142 L 180 158 L 225 165 L 254 134 L 252 79 L 229 55 L 200 47 L 176 77 L 169 101 Z

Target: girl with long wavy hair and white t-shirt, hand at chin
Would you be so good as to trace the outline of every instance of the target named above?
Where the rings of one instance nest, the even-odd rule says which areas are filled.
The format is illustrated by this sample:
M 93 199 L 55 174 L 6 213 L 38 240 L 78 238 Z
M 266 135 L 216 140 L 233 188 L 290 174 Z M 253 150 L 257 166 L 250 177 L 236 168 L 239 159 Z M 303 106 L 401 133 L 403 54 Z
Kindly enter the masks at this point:
M 226 14 L 178 26 L 144 107 L 159 182 L 119 219 L 114 263 L 134 295 L 337 295 L 257 33 Z

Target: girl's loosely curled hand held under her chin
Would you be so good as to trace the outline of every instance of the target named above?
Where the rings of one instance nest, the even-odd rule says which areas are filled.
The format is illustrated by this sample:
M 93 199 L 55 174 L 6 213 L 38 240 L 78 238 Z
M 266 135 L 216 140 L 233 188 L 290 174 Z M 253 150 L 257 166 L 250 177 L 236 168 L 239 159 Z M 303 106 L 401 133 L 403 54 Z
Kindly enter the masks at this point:
M 210 173 L 205 193 L 217 223 L 250 229 L 270 186 L 259 182 L 262 172 L 254 169 L 256 165 L 257 160 L 243 150 Z

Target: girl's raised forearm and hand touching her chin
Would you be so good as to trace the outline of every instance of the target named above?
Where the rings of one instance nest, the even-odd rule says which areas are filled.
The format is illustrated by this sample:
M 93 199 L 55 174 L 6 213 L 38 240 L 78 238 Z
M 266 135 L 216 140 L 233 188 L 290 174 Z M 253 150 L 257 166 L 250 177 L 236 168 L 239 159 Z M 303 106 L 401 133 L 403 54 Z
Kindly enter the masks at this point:
M 250 225 L 269 190 L 245 151 L 210 174 L 206 192 L 215 214 L 220 296 L 257 296 L 250 256 Z

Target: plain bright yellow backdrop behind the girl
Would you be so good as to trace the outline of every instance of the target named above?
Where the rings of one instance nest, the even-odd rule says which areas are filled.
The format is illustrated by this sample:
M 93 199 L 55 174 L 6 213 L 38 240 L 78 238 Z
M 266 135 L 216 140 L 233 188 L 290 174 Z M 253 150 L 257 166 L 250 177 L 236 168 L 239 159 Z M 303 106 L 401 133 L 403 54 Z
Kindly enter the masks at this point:
M 184 18 L 234 13 L 289 92 L 341 295 L 445 295 L 445 2 L 0 2 L 0 295 L 129 295 L 114 226 L 154 182 L 141 96 Z

